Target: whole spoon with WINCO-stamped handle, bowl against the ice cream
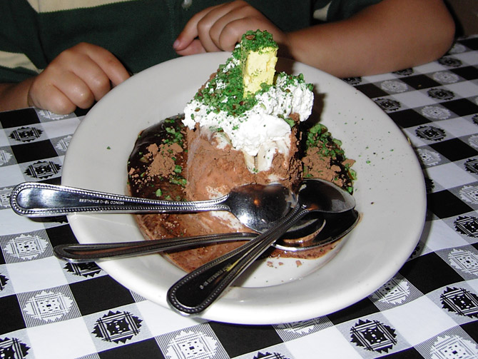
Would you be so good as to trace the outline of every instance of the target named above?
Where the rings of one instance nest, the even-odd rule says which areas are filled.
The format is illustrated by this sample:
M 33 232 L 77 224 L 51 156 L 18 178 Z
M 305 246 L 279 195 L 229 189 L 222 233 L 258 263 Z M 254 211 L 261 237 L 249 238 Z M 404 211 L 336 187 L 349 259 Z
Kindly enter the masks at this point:
M 296 202 L 295 194 L 278 183 L 248 184 L 233 188 L 220 198 L 190 202 L 151 200 L 37 182 L 21 183 L 10 195 L 11 208 L 21 216 L 229 211 L 245 226 L 258 232 L 283 218 Z

